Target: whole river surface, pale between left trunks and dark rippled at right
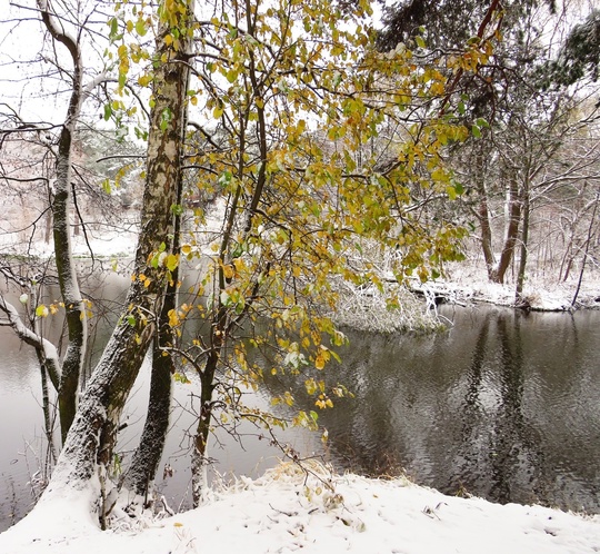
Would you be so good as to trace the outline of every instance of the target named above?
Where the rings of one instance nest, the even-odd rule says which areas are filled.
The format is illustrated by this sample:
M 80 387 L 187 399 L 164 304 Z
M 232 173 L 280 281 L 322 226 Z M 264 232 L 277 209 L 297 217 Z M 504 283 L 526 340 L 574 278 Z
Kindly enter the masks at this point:
M 342 364 L 327 369 L 354 398 L 320 412 L 329 431 L 282 438 L 338 469 L 404 472 L 447 494 L 473 494 L 600 513 L 600 311 L 524 314 L 489 306 L 444 307 L 452 324 L 437 335 L 347 332 Z M 98 339 L 98 344 L 101 344 Z M 33 354 L 0 327 L 0 531 L 27 513 L 30 481 L 43 459 L 40 377 Z M 303 386 L 291 388 L 312 409 Z M 127 455 L 143 424 L 148 369 L 127 408 L 120 441 Z M 158 485 L 172 507 L 189 505 L 190 389 L 178 408 Z M 257 395 L 267 406 L 269 394 Z M 243 432 L 244 429 L 242 429 Z M 279 457 L 252 428 L 241 446 L 220 434 L 210 448 L 220 472 L 257 476 Z

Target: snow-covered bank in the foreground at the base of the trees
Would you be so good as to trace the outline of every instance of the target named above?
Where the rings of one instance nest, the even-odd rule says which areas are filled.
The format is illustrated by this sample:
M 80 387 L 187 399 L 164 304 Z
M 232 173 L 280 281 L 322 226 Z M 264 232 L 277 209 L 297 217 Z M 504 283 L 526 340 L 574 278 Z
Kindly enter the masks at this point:
M 127 516 L 102 532 L 68 498 L 39 504 L 0 534 L 6 554 L 600 552 L 600 516 L 444 496 L 403 478 L 307 476 L 282 464 L 162 520 Z M 331 486 L 332 489 L 328 488 Z M 81 506 L 79 513 L 84 513 Z

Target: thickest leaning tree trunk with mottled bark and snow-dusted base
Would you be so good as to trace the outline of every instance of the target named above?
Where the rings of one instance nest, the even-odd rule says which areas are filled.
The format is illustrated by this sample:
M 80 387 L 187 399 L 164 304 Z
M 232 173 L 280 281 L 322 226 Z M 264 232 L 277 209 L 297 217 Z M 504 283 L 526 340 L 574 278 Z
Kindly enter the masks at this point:
M 157 63 L 153 80 L 153 107 L 148 142 L 147 177 L 143 195 L 141 229 L 136 253 L 134 275 L 127 298 L 127 311 L 114 329 L 81 399 L 76 419 L 67 436 L 52 483 L 82 489 L 97 475 L 106 483 L 117 441 L 120 416 L 126 399 L 139 373 L 156 332 L 161 311 L 166 268 L 153 267 L 161 245 L 169 246 L 173 234 L 172 207 L 177 202 L 177 186 L 182 170 L 182 145 L 189 79 L 190 21 L 192 2 L 181 0 L 176 10 L 162 18 L 157 37 Z M 177 8 L 184 8 L 177 11 Z M 161 3 L 159 13 L 164 14 Z M 166 21 L 171 16 L 169 21 Z M 173 23 L 173 18 L 176 22 Z M 180 33 L 179 50 L 170 36 L 176 24 Z M 167 117 L 168 116 L 168 117 Z M 168 249 L 167 249 L 168 253 Z M 93 498 L 90 510 L 107 506 L 102 494 L 100 505 Z M 104 504 L 104 505 L 102 505 Z

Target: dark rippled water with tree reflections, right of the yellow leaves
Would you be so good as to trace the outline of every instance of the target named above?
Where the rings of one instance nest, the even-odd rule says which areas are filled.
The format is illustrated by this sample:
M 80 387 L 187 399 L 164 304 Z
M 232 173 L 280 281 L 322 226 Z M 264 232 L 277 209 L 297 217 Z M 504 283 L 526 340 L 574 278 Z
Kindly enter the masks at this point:
M 507 503 L 599 512 L 600 314 L 454 309 L 430 337 L 351 334 L 321 413 L 333 461 Z M 300 390 L 299 390 L 300 394 Z

